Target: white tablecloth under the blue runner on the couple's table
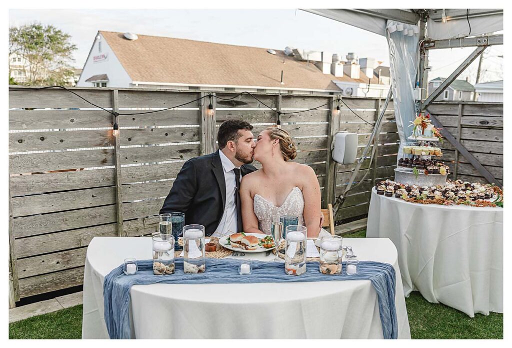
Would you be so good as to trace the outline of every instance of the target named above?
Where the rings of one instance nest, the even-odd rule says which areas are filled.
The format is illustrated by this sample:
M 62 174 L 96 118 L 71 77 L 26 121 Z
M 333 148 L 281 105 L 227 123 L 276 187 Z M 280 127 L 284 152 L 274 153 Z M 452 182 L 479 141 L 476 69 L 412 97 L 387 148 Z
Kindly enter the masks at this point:
M 396 270 L 398 337 L 411 338 L 396 248 L 387 238 L 346 238 L 359 260 Z M 271 260 L 265 253 L 236 258 Z M 103 279 L 126 257 L 151 259 L 150 238 L 95 237 L 83 279 L 82 338 L 109 338 Z M 151 284 L 131 290 L 135 338 L 382 338 L 369 280 L 257 284 Z

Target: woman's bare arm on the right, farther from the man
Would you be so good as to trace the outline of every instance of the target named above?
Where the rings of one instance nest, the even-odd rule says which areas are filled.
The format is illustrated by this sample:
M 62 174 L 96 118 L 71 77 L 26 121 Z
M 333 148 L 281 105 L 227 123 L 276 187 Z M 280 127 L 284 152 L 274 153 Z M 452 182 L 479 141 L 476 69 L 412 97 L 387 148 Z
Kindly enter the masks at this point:
M 302 194 L 304 195 L 304 223 L 308 228 L 308 237 L 317 237 L 320 233 L 320 216 L 322 215 L 320 185 L 314 170 L 305 166 L 304 184 Z

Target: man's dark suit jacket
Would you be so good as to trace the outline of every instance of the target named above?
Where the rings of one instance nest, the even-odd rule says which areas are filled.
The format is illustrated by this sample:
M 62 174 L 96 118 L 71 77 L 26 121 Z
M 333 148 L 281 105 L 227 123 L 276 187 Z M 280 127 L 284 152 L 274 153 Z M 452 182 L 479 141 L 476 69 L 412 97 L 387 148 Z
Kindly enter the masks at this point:
M 160 214 L 185 213 L 185 224 L 201 224 L 206 236 L 214 234 L 226 204 L 226 180 L 219 151 L 184 163 Z M 240 169 L 242 176 L 256 170 L 252 165 Z

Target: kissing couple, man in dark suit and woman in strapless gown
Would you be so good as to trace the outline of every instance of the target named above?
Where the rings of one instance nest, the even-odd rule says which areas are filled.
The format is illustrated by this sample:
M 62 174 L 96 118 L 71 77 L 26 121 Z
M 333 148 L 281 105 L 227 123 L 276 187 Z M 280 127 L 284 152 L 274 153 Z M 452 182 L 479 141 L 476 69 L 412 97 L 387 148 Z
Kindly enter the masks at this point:
M 287 131 L 268 127 L 258 134 L 244 120 L 219 127 L 219 150 L 187 160 L 160 214 L 181 212 L 185 224 L 202 224 L 205 235 L 270 234 L 272 216 L 298 217 L 308 237 L 321 230 L 321 194 L 309 166 L 291 162 L 297 147 Z M 261 163 L 256 169 L 251 163 Z

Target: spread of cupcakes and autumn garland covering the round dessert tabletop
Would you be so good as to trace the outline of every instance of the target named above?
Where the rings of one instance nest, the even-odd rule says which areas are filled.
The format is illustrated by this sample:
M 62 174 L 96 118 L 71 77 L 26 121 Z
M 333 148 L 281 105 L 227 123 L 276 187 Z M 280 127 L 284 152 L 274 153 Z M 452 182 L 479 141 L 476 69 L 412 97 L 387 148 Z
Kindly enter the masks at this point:
M 388 179 L 377 182 L 375 189 L 378 195 L 400 198 L 411 203 L 503 208 L 503 190 L 495 185 L 483 185 L 480 182 L 448 180 L 446 185 L 428 187 L 404 185 Z

